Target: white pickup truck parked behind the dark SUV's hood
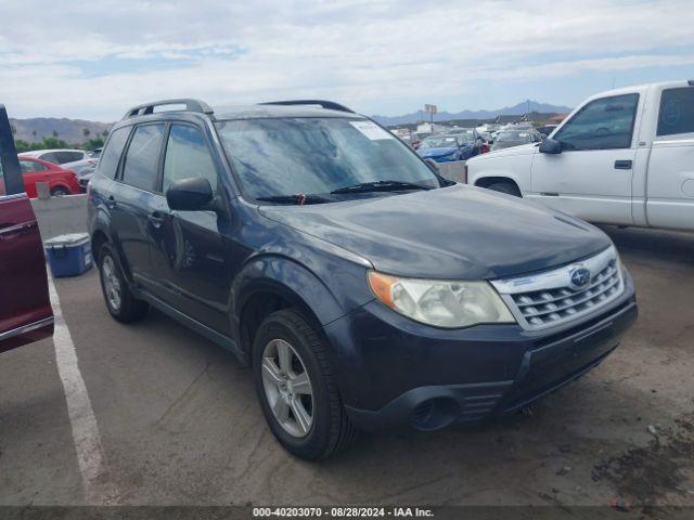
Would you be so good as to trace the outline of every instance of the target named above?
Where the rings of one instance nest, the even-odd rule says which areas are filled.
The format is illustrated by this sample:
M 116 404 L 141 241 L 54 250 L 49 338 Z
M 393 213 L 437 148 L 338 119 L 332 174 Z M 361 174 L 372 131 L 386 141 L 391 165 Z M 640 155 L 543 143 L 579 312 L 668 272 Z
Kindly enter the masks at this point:
M 591 222 L 694 231 L 694 81 L 593 95 L 542 143 L 470 159 L 467 182 Z

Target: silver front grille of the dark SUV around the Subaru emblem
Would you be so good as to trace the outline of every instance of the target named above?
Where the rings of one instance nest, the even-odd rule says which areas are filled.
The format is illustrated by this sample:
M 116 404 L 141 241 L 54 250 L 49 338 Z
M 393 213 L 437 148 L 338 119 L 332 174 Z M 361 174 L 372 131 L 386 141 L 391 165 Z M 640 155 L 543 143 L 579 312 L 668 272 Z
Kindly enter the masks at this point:
M 571 281 L 571 275 L 578 270 L 590 273 L 590 281 L 582 287 Z M 530 330 L 564 324 L 589 314 L 624 290 L 614 247 L 571 265 L 492 284 L 518 323 Z

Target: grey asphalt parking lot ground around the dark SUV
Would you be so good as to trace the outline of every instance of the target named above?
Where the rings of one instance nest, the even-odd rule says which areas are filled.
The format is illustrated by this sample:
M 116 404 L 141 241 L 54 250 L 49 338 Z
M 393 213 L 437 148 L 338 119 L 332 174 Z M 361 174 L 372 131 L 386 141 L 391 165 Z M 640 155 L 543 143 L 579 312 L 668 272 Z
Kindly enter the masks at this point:
M 320 464 L 275 443 L 231 354 L 156 312 L 115 323 L 94 271 L 56 281 L 110 494 L 85 494 L 46 340 L 0 358 L 0 504 L 694 505 L 694 235 L 606 231 L 641 315 L 605 363 L 529 413 L 363 435 Z

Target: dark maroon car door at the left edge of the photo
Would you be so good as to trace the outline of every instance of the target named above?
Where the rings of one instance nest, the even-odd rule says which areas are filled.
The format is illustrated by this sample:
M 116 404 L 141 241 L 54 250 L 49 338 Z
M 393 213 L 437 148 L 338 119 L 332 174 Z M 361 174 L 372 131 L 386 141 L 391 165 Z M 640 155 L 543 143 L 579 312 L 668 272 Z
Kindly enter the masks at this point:
M 0 352 L 52 334 L 41 235 L 0 105 Z

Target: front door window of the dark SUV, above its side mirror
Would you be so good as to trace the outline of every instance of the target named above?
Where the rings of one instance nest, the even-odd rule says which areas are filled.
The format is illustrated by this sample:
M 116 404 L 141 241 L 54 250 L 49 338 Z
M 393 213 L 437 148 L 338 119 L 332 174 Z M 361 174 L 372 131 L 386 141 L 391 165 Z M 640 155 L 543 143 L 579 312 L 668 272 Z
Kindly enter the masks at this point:
M 200 129 L 188 125 L 172 125 L 166 145 L 162 192 L 171 182 L 202 177 L 217 190 L 217 169 Z

